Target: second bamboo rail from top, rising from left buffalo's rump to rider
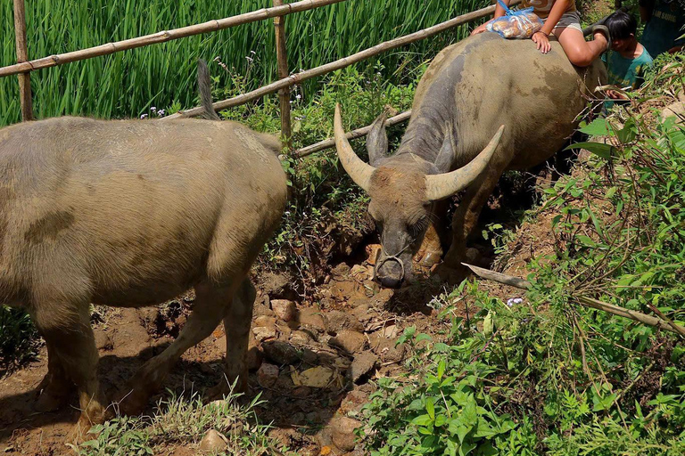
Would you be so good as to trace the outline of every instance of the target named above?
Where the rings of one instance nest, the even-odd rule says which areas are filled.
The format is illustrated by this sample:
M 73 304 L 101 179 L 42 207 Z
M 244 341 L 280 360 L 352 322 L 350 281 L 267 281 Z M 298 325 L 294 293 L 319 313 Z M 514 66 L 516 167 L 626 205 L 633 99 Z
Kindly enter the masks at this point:
M 520 0 L 515 0 L 511 3 L 511 5 L 513 6 L 519 3 Z M 375 45 L 364 51 L 360 51 L 359 53 L 354 53 L 347 57 L 343 57 L 342 59 L 339 59 L 337 61 L 332 61 L 330 63 L 326 63 L 325 65 L 321 65 L 320 67 L 308 69 L 306 71 L 302 71 L 301 73 L 297 73 L 289 77 L 279 79 L 276 82 L 264 85 L 258 89 L 253 90 L 252 92 L 240 94 L 234 98 L 230 98 L 222 102 L 215 102 L 214 110 L 226 110 L 227 108 L 233 108 L 234 106 L 239 106 L 246 102 L 252 102 L 252 100 L 257 100 L 258 98 L 266 94 L 273 94 L 274 92 L 282 88 L 289 87 L 291 85 L 301 84 L 302 82 L 311 79 L 312 77 L 326 75 L 337 69 L 343 69 L 359 61 L 364 61 L 370 57 L 378 55 L 379 53 L 384 53 L 386 51 L 390 51 L 403 45 L 409 45 L 410 43 L 415 43 L 422 39 L 433 37 L 434 35 L 437 35 L 438 33 L 441 33 L 445 30 L 455 28 L 459 25 L 466 24 L 467 22 L 471 22 L 473 20 L 482 19 L 486 16 L 491 15 L 494 11 L 495 6 L 491 5 L 486 8 L 476 10 L 475 12 L 468 12 L 466 14 L 462 14 L 461 16 L 457 16 L 454 19 L 447 20 L 440 24 L 434 25 L 433 27 L 425 28 L 423 30 L 419 30 L 409 35 L 405 35 L 404 37 L 399 37 L 392 39 L 390 41 L 385 41 L 380 45 Z M 172 114 L 171 116 L 167 116 L 166 118 L 188 118 L 202 114 L 202 111 L 203 108 L 198 107 L 193 108 L 191 110 L 178 111 L 176 114 Z

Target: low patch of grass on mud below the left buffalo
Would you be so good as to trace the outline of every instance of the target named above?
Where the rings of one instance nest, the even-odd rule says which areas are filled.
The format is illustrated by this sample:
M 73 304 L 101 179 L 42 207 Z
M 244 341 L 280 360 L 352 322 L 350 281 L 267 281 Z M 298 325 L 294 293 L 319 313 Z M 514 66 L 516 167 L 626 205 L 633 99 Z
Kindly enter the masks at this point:
M 152 417 L 111 419 L 90 429 L 93 440 L 70 446 L 79 456 L 144 456 L 159 454 L 169 444 L 196 447 L 214 429 L 227 437 L 226 451 L 218 454 L 257 456 L 278 447 L 266 436 L 269 427 L 255 415 L 255 407 L 262 403 L 259 395 L 247 405 L 240 405 L 240 396 L 203 404 L 197 395 L 171 394 Z

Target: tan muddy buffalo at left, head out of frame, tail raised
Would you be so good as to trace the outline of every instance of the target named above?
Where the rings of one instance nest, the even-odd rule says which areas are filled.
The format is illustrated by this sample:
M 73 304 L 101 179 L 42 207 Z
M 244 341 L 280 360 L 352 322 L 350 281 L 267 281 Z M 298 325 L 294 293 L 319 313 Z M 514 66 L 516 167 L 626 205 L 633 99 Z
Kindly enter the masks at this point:
M 27 308 L 45 338 L 39 410 L 62 406 L 75 384 L 78 428 L 105 418 L 90 303 L 155 305 L 191 287 L 193 314 L 123 388 L 122 411 L 144 408 L 222 320 L 227 378 L 246 384 L 247 274 L 285 208 L 279 150 L 270 135 L 205 119 L 66 117 L 0 130 L 0 303 Z

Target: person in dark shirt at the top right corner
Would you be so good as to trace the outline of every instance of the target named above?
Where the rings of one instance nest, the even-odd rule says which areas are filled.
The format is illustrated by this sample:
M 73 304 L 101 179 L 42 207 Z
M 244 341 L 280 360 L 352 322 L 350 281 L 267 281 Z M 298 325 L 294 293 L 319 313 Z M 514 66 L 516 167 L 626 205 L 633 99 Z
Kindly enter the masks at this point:
M 640 0 L 640 16 L 645 22 L 642 44 L 656 57 L 660 53 L 683 50 L 685 40 L 685 8 L 678 0 Z

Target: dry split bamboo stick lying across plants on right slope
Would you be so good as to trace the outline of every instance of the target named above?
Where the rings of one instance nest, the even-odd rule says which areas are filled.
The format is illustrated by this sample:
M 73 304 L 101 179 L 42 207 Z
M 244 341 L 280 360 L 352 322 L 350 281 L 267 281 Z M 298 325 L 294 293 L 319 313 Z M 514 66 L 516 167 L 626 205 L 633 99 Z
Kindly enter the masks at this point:
M 468 267 L 471 271 L 473 271 L 477 276 L 482 277 L 483 279 L 487 279 L 489 281 L 497 281 L 499 283 L 503 283 L 505 285 L 510 285 L 512 287 L 516 287 L 518 289 L 530 289 L 531 288 L 531 282 L 525 281 L 524 279 L 521 279 L 519 277 L 514 277 L 512 275 L 506 275 L 503 273 L 495 273 L 494 271 L 490 271 L 489 269 L 483 269 L 482 267 L 474 266 L 474 265 L 467 265 L 466 263 L 462 263 L 462 265 L 465 265 Z M 634 310 L 626 309 L 624 307 L 619 307 L 618 305 L 613 305 L 613 304 L 608 304 L 602 301 L 599 301 L 598 299 L 594 299 L 592 297 L 573 297 L 574 301 L 577 302 L 580 305 L 584 305 L 586 307 L 591 307 L 593 309 L 601 310 L 603 312 L 607 312 L 607 314 L 613 314 L 613 315 L 618 315 L 623 318 L 629 318 L 635 322 L 640 322 L 647 324 L 648 326 L 654 326 L 656 328 L 659 328 L 660 330 L 667 330 L 674 332 L 678 335 L 685 335 L 685 328 L 682 326 L 679 326 L 673 322 L 668 322 L 664 320 L 663 318 L 658 318 L 658 317 L 653 317 L 648 314 L 642 314 L 641 312 L 635 312 Z

